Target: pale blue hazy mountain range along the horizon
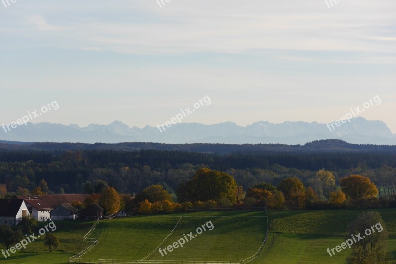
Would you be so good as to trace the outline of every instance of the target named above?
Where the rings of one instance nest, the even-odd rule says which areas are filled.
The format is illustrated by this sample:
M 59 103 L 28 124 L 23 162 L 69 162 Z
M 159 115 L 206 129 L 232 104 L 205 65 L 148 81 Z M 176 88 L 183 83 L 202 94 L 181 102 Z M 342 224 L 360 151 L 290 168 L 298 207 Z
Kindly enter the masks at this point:
M 341 139 L 354 144 L 396 145 L 396 135 L 382 121 L 369 121 L 362 117 L 335 127 L 330 131 L 326 124 L 317 122 L 284 122 L 274 124 L 259 121 L 246 127 L 233 122 L 214 125 L 199 123 L 174 124 L 162 133 L 156 127 L 128 127 L 120 121 L 109 125 L 28 123 L 9 132 L 0 129 L 0 140 L 23 142 L 157 142 L 157 143 L 226 143 L 226 144 L 305 144 L 323 139 Z

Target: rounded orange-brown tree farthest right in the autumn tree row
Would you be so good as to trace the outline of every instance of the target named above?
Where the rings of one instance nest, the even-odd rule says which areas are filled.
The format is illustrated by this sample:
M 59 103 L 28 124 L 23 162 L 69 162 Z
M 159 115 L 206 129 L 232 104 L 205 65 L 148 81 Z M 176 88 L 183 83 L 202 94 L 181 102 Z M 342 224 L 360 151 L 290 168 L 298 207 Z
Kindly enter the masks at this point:
M 352 199 L 376 197 L 378 189 L 367 177 L 350 175 L 340 179 L 343 192 Z

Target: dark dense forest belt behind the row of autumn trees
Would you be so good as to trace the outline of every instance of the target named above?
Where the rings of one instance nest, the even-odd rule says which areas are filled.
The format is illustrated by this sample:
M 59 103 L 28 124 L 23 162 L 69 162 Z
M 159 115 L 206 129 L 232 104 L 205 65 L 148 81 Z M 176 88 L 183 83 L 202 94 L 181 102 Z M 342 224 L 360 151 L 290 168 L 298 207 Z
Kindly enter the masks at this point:
M 160 184 L 174 193 L 200 168 L 224 171 L 248 188 L 267 182 L 277 186 L 288 177 L 306 185 L 320 169 L 340 177 L 369 177 L 384 194 L 394 194 L 396 153 L 393 152 L 268 152 L 208 153 L 163 150 L 114 151 L 62 149 L 0 151 L 0 184 L 8 193 L 31 191 L 44 179 L 54 193 L 81 193 L 87 182 L 103 180 L 119 193 L 138 193 Z

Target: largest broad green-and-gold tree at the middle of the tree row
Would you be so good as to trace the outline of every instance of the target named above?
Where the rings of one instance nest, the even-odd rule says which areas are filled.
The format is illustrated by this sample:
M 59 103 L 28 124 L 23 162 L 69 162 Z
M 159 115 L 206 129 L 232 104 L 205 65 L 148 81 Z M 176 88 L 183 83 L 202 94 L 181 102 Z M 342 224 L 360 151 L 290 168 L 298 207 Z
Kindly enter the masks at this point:
M 237 200 L 238 185 L 234 178 L 225 172 L 199 169 L 193 178 L 181 183 L 176 190 L 179 202 L 197 202 L 213 200 L 218 202 L 225 197 L 231 203 Z

